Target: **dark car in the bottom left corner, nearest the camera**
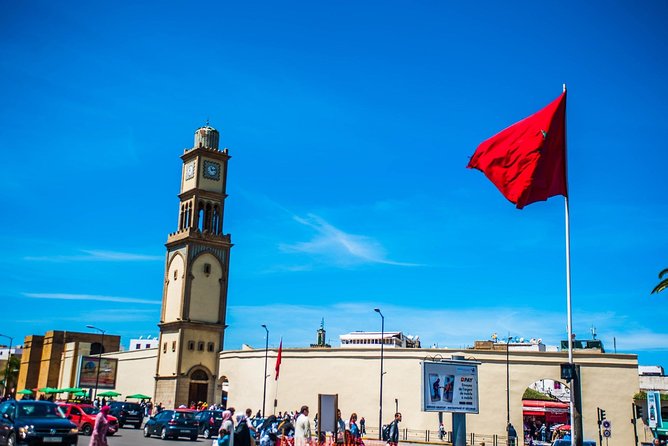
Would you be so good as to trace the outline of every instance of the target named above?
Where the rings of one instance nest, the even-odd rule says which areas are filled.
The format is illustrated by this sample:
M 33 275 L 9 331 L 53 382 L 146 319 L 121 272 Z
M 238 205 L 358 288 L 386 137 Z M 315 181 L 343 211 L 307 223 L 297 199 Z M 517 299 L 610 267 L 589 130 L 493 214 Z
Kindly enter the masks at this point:
M 51 401 L 0 403 L 0 445 L 57 443 L 76 445 L 79 429 Z

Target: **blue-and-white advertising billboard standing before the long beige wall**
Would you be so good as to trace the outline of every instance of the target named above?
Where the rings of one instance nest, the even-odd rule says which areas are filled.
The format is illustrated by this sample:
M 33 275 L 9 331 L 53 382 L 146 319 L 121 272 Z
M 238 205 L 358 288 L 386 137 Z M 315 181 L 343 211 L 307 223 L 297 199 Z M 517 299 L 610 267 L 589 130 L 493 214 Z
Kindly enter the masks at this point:
M 424 361 L 424 412 L 478 413 L 478 362 Z

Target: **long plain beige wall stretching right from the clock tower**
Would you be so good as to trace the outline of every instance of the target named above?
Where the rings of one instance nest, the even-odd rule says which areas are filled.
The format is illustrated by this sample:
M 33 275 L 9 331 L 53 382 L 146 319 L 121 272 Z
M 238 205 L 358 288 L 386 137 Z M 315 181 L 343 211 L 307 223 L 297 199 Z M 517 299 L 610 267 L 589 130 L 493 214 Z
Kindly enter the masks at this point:
M 404 427 L 436 429 L 437 414 L 421 411 L 420 362 L 428 356 L 449 358 L 461 354 L 481 362 L 478 370 L 480 413 L 467 416 L 468 432 L 504 435 L 506 425 L 506 355 L 499 351 L 446 349 L 388 349 L 385 351 L 383 383 L 383 422 L 392 419 L 395 399 L 404 416 Z M 220 355 L 220 376 L 229 379 L 228 404 L 237 408 L 262 407 L 264 350 L 225 351 Z M 318 393 L 338 394 L 344 416 L 355 411 L 364 416 L 367 426 L 378 425 L 379 373 L 378 349 L 286 349 L 278 386 L 274 381 L 276 351 L 269 353 L 267 380 L 268 412 L 274 395 L 278 411 L 295 410 L 302 404 L 317 407 Z M 510 418 L 522 429 L 522 395 L 541 379 L 560 380 L 559 364 L 565 353 L 511 352 Z M 576 353 L 583 381 L 583 420 L 586 439 L 597 439 L 596 408 L 607 411 L 614 425 L 609 446 L 633 443 L 629 423 L 631 402 L 638 391 L 638 363 L 635 355 Z M 218 401 L 220 395 L 217 395 Z M 452 429 L 451 416 L 444 416 L 446 429 Z

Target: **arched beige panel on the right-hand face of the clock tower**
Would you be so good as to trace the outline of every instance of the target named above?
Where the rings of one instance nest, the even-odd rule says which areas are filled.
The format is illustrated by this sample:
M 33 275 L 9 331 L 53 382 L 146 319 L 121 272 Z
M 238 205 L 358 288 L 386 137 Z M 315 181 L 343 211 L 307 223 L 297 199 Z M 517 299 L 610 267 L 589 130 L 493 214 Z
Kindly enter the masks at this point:
M 204 264 L 211 265 L 211 272 L 205 274 Z M 202 322 L 218 322 L 220 311 L 221 279 L 223 267 L 212 254 L 198 256 L 191 268 L 192 282 L 190 285 L 190 320 Z

